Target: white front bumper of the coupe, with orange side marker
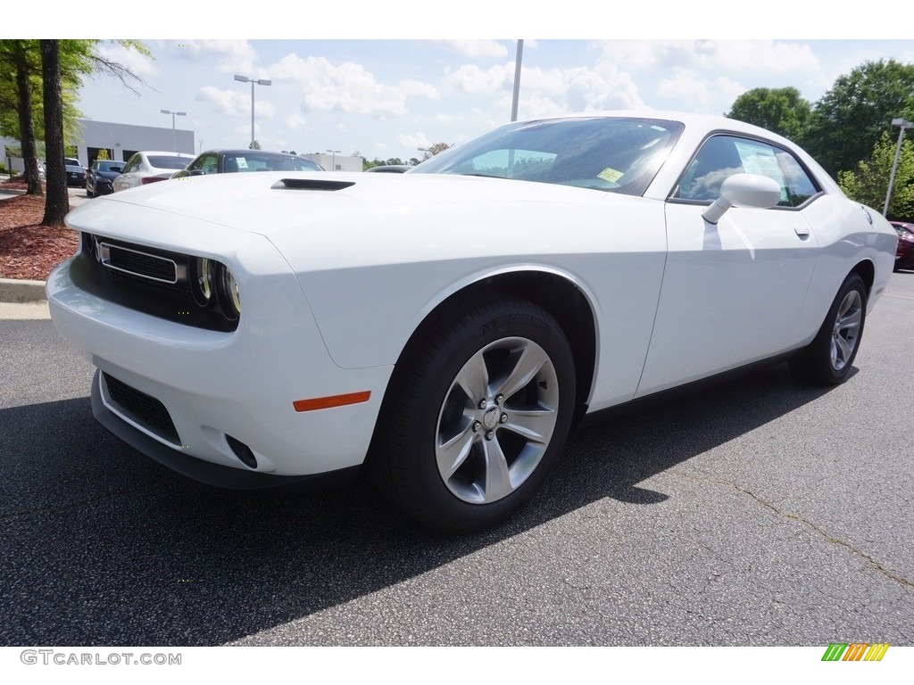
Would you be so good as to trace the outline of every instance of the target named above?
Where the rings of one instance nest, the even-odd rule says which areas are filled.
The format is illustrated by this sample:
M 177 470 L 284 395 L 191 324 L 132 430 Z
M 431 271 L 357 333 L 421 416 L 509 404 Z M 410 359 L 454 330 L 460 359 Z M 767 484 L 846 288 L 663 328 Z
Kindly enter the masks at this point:
M 358 466 L 392 367 L 333 364 L 298 280 L 275 248 L 263 237 L 218 228 L 220 237 L 210 244 L 228 248 L 229 258 L 220 257 L 232 262 L 242 292 L 244 309 L 233 332 L 166 321 L 81 290 L 70 275 L 72 259 L 51 273 L 48 303 L 58 331 L 101 373 L 160 403 L 174 432 L 138 420 L 112 400 L 99 374 L 92 387 L 96 417 L 166 466 L 225 487 L 240 487 L 231 484 L 237 474 L 214 479 L 207 476 L 211 467 L 274 484 L 259 477 Z M 355 405 L 308 412 L 292 405 L 365 391 L 367 402 Z M 256 467 L 246 465 L 233 441 L 250 449 Z

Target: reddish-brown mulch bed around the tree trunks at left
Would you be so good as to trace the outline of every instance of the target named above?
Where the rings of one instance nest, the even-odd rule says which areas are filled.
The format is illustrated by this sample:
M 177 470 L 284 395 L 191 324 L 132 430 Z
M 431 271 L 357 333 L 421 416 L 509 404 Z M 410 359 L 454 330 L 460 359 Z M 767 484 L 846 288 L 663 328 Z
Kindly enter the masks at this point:
M 7 188 L 24 190 L 25 184 L 0 184 L 0 189 Z M 51 269 L 76 252 L 76 231 L 41 226 L 44 214 L 43 197 L 0 200 L 0 279 L 47 280 Z

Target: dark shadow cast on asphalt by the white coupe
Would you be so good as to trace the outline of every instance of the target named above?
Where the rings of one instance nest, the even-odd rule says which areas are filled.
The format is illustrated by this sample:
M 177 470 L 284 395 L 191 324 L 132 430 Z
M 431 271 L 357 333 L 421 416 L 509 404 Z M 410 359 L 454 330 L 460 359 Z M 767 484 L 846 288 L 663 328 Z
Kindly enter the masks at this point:
M 363 480 L 308 495 L 216 490 L 96 424 L 89 398 L 0 410 L 0 644 L 217 645 L 377 592 L 604 498 L 826 392 L 785 365 L 622 412 L 569 439 L 537 499 L 468 536 L 426 531 Z M 48 429 L 53 422 L 55 432 Z M 300 644 L 311 644 L 302 634 Z

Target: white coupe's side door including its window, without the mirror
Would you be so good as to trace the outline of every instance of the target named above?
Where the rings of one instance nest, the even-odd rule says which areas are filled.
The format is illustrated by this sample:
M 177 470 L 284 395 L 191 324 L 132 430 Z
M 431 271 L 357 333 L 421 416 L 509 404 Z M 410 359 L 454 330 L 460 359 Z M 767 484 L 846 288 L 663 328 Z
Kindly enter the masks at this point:
M 702 213 L 732 174 L 781 186 L 769 209 Z M 717 134 L 706 139 L 665 204 L 667 258 L 654 332 L 636 396 L 749 364 L 796 346 L 818 252 L 802 207 L 821 188 L 787 150 Z

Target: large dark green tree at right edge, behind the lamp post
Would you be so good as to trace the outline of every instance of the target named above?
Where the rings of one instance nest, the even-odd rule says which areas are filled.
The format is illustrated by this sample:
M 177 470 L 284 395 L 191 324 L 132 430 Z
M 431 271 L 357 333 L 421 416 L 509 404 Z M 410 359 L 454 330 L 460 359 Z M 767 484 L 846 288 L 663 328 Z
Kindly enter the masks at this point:
M 802 145 L 834 174 L 866 160 L 896 117 L 914 115 L 914 64 L 865 62 L 815 103 Z

